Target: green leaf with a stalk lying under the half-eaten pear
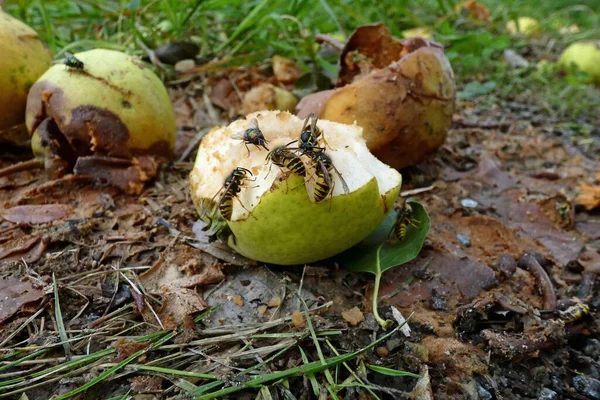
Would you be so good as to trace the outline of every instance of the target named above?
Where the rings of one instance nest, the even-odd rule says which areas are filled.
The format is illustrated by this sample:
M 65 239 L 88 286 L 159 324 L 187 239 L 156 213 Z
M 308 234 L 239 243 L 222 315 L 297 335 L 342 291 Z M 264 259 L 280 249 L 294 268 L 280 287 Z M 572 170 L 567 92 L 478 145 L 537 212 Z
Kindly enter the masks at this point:
M 398 212 L 394 210 L 375 232 L 341 254 L 346 269 L 381 275 L 390 268 L 414 260 L 419 255 L 429 231 L 429 215 L 416 200 L 408 199 L 406 203 L 412 208 L 410 218 L 416 226 L 408 225 L 404 240 L 388 238 L 398 216 Z

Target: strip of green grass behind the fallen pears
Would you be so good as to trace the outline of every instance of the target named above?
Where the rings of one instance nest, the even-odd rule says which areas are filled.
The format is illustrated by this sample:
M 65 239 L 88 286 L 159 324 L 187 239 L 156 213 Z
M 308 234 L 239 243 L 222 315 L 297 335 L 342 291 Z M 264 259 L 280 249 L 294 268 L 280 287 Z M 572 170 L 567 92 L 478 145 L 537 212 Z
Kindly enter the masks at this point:
M 570 0 L 529 2 L 487 0 L 492 20 L 474 21 L 455 12 L 456 0 L 9 0 L 5 9 L 38 30 L 57 57 L 94 47 L 144 55 L 177 40 L 200 46 L 205 60 L 225 60 L 224 66 L 253 65 L 274 54 L 291 57 L 305 69 L 336 71 L 336 57 L 317 53 L 318 33 L 350 34 L 356 27 L 384 22 L 396 36 L 416 26 L 432 28 L 446 45 L 459 87 L 469 82 L 494 82 L 486 95 L 493 99 L 529 102 L 565 119 L 600 105 L 598 90 L 585 77 L 565 79 L 557 68 L 515 71 L 503 60 L 507 48 L 527 53 L 532 65 L 555 61 L 573 41 L 600 37 L 600 2 Z M 529 40 L 510 36 L 506 23 L 518 16 L 537 18 L 544 35 Z M 577 24 L 578 33 L 561 34 Z M 515 96 L 515 94 L 518 94 Z M 582 105 L 585 105 L 583 107 Z M 592 121 L 594 122 L 594 121 Z

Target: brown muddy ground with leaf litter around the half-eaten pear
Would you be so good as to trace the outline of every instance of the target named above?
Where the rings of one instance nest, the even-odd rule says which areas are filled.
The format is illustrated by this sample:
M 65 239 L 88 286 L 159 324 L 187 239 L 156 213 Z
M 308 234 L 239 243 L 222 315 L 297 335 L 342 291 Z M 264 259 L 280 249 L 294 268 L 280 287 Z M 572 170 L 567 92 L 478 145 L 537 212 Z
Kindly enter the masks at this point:
M 173 93 L 181 156 L 202 115 L 194 117 L 193 107 L 180 95 Z M 600 296 L 595 283 L 600 214 L 575 201 L 582 184 L 600 184 L 600 163 L 594 159 L 600 136 L 596 131 L 591 140 L 576 138 L 524 104 L 501 103 L 485 110 L 472 103 L 459 105 L 446 144 L 429 162 L 403 171 L 403 190 L 422 189 L 411 196 L 426 206 L 431 230 L 416 260 L 385 274 L 380 305 L 384 315 L 391 314 L 391 307 L 405 317 L 414 313 L 412 333 L 367 352 L 362 356 L 366 362 L 428 371 L 436 399 L 600 399 Z M 204 346 L 198 340 L 209 332 L 227 327 L 236 332 L 277 318 L 284 321 L 278 332 L 305 329 L 305 321 L 290 317 L 301 309 L 291 293 L 303 272 L 308 306 L 327 306 L 313 315 L 313 323 L 343 332 L 332 339 L 338 350 L 357 350 L 383 334 L 370 310 L 370 275 L 347 273 L 334 260 L 305 271 L 265 266 L 208 243 L 188 193 L 193 156 L 191 151 L 182 161 L 163 166 L 139 197 L 81 178 L 48 182 L 41 172 L 0 179 L 0 347 L 5 354 L 11 347 L 60 342 L 52 275 L 67 333 L 75 337 L 103 328 L 85 343 L 73 342 L 72 354 L 109 346 L 120 354 L 118 337 L 183 324 L 185 333 L 176 343 L 190 358 L 168 365 L 214 370 L 215 363 L 202 363 L 191 353 Z M 16 158 L 5 155 L 2 166 Z M 192 315 L 217 304 L 208 319 L 193 323 Z M 364 317 L 357 326 L 342 317 L 353 307 Z M 38 311 L 26 329 L 14 334 Z M 121 318 L 113 318 L 115 312 Z M 126 335 L 120 333 L 127 328 Z M 265 339 L 252 342 L 255 349 L 269 344 Z M 202 354 L 212 359 L 235 346 L 240 344 L 202 347 Z M 316 357 L 310 341 L 305 346 Z M 264 351 L 263 357 L 273 352 Z M 59 346 L 39 358 L 54 357 L 48 365 L 57 365 L 64 352 Z M 255 355 L 228 359 L 217 369 L 235 371 L 256 362 Z M 333 353 L 328 350 L 328 355 Z M 138 363 L 164 356 L 147 353 Z M 301 361 L 292 349 L 269 369 Z M 23 364 L 1 373 L 26 368 L 41 366 Z M 94 373 L 65 376 L 27 394 L 49 398 Z M 140 399 L 175 398 L 178 393 L 173 380 L 163 375 L 128 371 L 113 378 L 80 398 L 105 399 L 130 388 L 146 394 L 136 397 Z M 368 378 L 396 390 L 383 398 L 426 398 L 413 391 L 415 378 L 373 373 Z M 308 381 L 297 378 L 297 383 L 294 394 L 310 398 Z M 0 397 L 20 396 L 2 390 Z M 277 390 L 272 393 L 283 398 Z M 370 397 L 350 389 L 344 398 Z

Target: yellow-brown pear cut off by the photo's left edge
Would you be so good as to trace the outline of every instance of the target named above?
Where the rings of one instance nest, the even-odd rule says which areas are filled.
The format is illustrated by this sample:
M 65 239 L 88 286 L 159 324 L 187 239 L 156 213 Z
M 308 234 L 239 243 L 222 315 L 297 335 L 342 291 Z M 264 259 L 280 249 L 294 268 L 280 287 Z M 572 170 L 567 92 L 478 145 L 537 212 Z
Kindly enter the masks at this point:
M 52 63 L 52 54 L 37 33 L 0 10 L 0 142 L 28 139 L 25 129 L 27 93 Z

